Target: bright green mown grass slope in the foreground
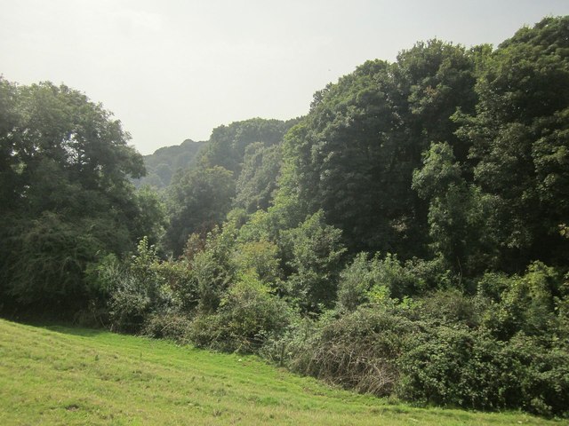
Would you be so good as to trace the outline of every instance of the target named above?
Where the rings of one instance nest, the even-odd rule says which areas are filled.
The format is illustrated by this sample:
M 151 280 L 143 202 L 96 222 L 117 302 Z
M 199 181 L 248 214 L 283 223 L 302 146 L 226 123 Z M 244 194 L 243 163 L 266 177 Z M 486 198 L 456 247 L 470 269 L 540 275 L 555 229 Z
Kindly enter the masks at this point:
M 0 425 L 560 423 L 519 413 L 390 405 L 255 357 L 0 320 Z

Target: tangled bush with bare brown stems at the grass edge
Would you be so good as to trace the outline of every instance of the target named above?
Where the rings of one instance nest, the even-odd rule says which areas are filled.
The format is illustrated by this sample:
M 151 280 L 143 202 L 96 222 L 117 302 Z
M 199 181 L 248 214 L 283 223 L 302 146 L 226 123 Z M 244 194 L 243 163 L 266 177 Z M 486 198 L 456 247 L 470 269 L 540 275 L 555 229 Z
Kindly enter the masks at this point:
M 264 353 L 276 358 L 282 348 L 284 362 L 294 371 L 360 392 L 388 395 L 398 381 L 396 361 L 405 340 L 417 332 L 402 311 L 395 305 L 374 304 L 340 318 L 332 312 L 311 329 L 301 323 L 296 333 L 272 342 Z

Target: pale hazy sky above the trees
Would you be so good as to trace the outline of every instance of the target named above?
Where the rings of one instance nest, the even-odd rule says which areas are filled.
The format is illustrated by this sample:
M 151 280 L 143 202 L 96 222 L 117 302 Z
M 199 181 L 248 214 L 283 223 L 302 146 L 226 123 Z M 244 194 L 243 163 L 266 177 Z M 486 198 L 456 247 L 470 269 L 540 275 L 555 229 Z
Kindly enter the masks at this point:
M 0 75 L 100 102 L 141 154 L 312 95 L 417 41 L 494 46 L 568 0 L 0 0 Z

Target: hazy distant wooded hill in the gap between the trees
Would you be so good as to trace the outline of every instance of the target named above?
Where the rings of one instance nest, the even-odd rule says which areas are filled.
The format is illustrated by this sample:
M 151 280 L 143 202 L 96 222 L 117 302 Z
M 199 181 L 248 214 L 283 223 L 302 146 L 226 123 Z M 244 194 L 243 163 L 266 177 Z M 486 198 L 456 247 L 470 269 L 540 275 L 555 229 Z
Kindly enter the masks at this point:
M 205 141 L 195 142 L 186 139 L 180 145 L 164 146 L 156 149 L 154 154 L 145 155 L 144 165 L 147 176 L 134 179 L 134 185 L 137 188 L 142 185 L 154 186 L 157 189 L 164 188 L 170 184 L 176 170 L 188 169 L 196 162 L 197 153 L 205 144 Z

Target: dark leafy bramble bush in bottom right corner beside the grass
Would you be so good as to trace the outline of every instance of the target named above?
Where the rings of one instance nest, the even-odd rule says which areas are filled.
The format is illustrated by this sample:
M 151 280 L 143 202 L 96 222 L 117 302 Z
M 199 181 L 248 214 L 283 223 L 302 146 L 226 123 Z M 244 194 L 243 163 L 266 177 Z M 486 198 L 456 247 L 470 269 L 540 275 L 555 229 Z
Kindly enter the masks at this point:
M 501 342 L 484 329 L 430 328 L 408 340 L 397 361 L 397 396 L 476 409 L 519 408 L 568 415 L 569 353 L 516 335 Z

